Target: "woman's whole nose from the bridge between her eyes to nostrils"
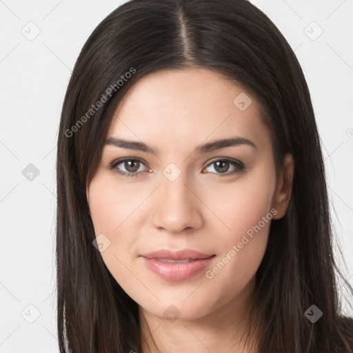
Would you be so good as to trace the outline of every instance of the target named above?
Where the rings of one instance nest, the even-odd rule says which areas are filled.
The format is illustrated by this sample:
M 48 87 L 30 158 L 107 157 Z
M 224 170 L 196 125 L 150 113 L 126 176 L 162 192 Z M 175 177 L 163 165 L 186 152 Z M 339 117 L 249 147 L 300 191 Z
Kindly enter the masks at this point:
M 154 212 L 154 226 L 170 232 L 197 228 L 202 223 L 199 201 L 192 192 L 188 173 L 170 163 L 161 175 L 161 187 Z

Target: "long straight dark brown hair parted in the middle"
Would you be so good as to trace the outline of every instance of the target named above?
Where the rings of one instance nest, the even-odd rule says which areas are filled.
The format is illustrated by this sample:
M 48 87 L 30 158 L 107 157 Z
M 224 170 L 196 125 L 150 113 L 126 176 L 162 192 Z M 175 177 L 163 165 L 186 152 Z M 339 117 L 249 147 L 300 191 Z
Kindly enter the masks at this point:
M 86 41 L 65 94 L 57 148 L 57 324 L 60 352 L 141 352 L 138 304 L 92 245 L 86 188 L 125 92 L 158 70 L 208 68 L 259 101 L 276 167 L 291 152 L 292 198 L 272 220 L 256 272 L 249 342 L 259 353 L 352 352 L 341 314 L 327 185 L 314 111 L 298 60 L 246 0 L 132 0 Z M 98 103 L 100 102 L 100 103 Z M 311 305 L 323 316 L 313 323 Z

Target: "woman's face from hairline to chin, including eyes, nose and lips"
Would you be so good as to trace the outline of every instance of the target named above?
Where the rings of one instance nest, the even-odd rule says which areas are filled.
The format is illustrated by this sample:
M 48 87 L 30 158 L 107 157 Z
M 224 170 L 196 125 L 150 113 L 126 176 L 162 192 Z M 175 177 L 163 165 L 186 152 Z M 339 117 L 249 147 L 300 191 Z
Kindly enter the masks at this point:
M 199 319 L 251 292 L 290 194 L 259 112 L 249 92 L 206 69 L 150 74 L 119 104 L 88 203 L 105 265 L 150 314 Z M 224 139 L 234 140 L 210 145 Z M 158 250 L 204 256 L 146 258 Z

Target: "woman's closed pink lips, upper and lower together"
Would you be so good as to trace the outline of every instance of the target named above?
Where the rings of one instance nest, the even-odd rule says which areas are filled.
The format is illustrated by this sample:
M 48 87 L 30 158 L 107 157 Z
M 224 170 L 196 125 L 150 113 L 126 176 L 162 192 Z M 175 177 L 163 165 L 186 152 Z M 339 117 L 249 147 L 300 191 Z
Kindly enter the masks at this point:
M 183 281 L 190 279 L 194 274 L 203 270 L 216 255 L 203 254 L 185 249 L 176 252 L 159 250 L 141 256 L 146 267 L 162 279 L 167 281 Z

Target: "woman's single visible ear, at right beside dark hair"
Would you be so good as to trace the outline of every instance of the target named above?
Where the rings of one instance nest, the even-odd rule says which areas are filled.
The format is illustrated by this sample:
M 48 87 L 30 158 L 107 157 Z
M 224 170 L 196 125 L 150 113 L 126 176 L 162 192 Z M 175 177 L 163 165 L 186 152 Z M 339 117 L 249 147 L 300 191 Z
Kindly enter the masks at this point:
M 292 196 L 292 182 L 294 177 L 294 159 L 288 153 L 283 159 L 283 165 L 277 183 L 276 192 L 272 201 L 272 207 L 277 210 L 273 219 L 281 219 L 287 212 L 290 197 Z

